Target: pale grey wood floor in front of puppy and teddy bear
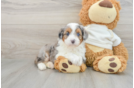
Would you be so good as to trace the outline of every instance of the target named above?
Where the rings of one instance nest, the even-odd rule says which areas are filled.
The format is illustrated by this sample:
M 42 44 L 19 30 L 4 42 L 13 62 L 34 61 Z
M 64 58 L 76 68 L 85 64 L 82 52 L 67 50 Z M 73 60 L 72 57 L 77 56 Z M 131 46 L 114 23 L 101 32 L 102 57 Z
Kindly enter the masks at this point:
M 85 72 L 64 74 L 39 71 L 33 59 L 2 59 L 2 88 L 132 88 L 133 64 L 119 74 L 104 74 L 88 67 Z M 4 64 L 8 63 L 8 64 Z M 16 66 L 17 65 L 17 66 Z

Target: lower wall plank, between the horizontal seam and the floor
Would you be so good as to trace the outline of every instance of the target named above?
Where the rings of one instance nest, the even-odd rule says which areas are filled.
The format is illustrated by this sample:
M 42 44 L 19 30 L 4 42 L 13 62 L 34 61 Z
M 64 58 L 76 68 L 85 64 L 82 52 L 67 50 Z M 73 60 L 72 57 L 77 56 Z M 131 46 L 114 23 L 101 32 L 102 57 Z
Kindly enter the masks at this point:
M 64 25 L 2 25 L 2 58 L 32 58 L 39 49 L 49 43 L 55 43 L 58 32 Z M 118 25 L 114 30 L 129 52 L 129 61 L 133 60 L 132 25 Z M 127 29 L 127 30 L 126 30 Z

